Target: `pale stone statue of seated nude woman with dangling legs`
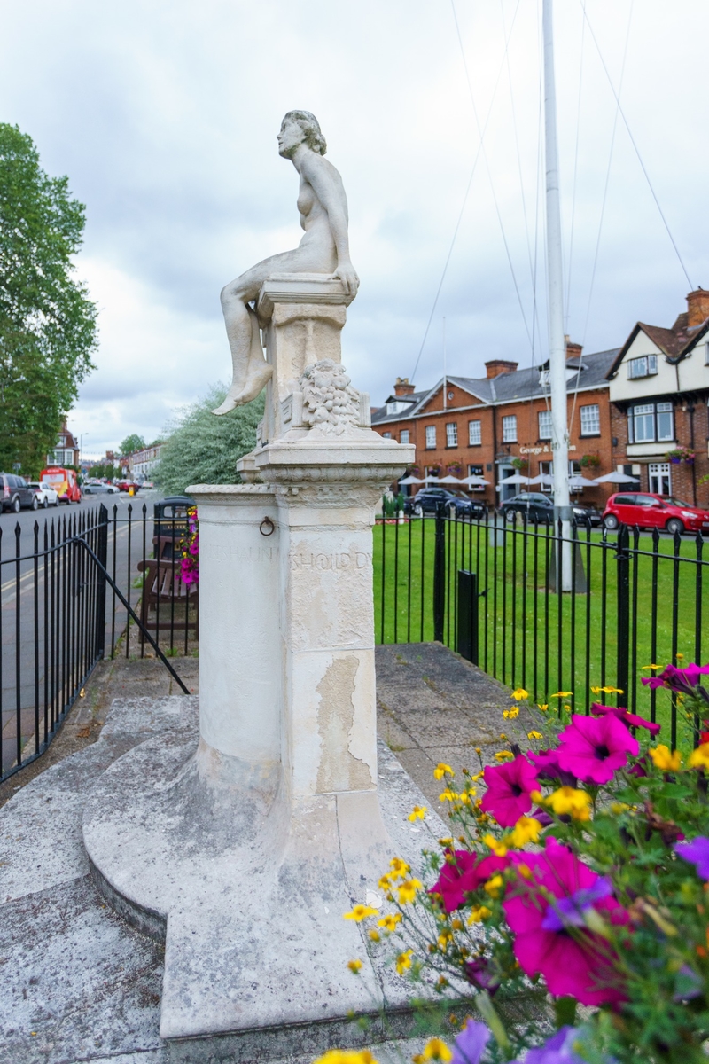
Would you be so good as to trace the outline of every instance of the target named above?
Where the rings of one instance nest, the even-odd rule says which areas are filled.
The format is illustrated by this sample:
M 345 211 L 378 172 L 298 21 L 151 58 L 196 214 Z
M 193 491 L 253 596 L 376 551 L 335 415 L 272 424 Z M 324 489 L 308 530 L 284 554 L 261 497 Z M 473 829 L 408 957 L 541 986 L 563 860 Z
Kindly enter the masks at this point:
M 298 210 L 305 235 L 292 251 L 265 259 L 237 277 L 221 293 L 226 335 L 232 350 L 232 386 L 215 414 L 251 402 L 265 387 L 272 367 L 264 359 L 258 319 L 250 305 L 264 281 L 274 273 L 325 273 L 339 278 L 355 296 L 359 278 L 350 261 L 348 201 L 342 179 L 323 155 L 325 138 L 309 111 L 289 111 L 277 136 L 278 154 L 289 159 L 301 179 Z

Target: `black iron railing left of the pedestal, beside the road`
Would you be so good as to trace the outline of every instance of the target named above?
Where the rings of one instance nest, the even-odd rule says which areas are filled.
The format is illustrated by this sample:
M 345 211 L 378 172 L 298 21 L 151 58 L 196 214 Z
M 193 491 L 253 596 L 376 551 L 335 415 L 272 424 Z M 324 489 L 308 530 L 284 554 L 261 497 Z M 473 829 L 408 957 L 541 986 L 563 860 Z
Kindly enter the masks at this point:
M 47 749 L 104 656 L 155 654 L 187 693 L 166 658 L 198 636 L 185 522 L 153 531 L 145 504 L 0 525 L 0 780 Z

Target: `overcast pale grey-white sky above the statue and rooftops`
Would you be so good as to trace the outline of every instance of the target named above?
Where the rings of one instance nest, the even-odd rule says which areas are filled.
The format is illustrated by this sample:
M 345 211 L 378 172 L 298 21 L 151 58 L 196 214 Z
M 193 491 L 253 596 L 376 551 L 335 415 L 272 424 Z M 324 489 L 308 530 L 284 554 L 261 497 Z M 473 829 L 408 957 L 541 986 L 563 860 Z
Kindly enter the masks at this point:
M 621 105 L 691 285 L 709 287 L 709 4 L 585 5 L 587 23 L 584 0 L 556 0 L 555 47 L 567 331 L 594 351 L 637 320 L 670 326 L 690 288 L 621 118 L 609 170 L 603 63 L 618 90 L 625 54 Z M 158 436 L 230 380 L 220 288 L 301 236 L 275 143 L 293 107 L 318 116 L 344 180 L 361 287 L 343 362 L 375 405 L 413 371 L 476 159 L 415 383 L 441 376 L 443 317 L 450 373 L 529 365 L 530 337 L 544 358 L 541 0 L 455 12 L 465 64 L 451 0 L 1 0 L 0 120 L 86 204 L 77 267 L 100 348 L 69 418 L 85 454 Z

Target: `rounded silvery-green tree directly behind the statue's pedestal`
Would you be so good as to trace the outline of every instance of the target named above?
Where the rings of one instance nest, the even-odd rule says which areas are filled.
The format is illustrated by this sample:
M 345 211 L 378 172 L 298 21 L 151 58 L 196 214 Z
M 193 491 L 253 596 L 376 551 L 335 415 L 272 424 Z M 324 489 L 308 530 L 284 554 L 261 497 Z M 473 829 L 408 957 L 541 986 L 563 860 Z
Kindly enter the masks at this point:
M 256 446 L 256 426 L 264 416 L 264 397 L 230 414 L 215 417 L 226 388 L 210 387 L 204 399 L 186 406 L 170 426 L 153 479 L 169 494 L 188 484 L 235 484 L 236 460 Z

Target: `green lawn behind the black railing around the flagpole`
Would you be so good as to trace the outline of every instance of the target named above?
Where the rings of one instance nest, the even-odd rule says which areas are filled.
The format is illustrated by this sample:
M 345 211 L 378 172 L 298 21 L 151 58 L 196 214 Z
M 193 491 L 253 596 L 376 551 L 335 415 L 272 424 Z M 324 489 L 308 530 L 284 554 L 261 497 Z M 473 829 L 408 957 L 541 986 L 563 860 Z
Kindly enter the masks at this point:
M 434 638 L 435 523 L 424 519 L 374 529 L 378 643 Z M 617 683 L 618 535 L 609 535 L 604 547 L 600 532 L 579 533 L 577 572 L 583 567 L 589 592 L 562 595 L 560 616 L 559 599 L 546 586 L 547 571 L 554 570 L 546 532 L 525 535 L 506 526 L 497 530 L 496 544 L 494 535 L 484 526 L 445 522 L 444 642 L 456 648 L 456 572 L 470 569 L 485 592 L 478 610 L 482 668 L 512 687 L 525 687 L 538 702 L 550 701 L 557 691 L 572 691 L 568 701 L 579 712 L 594 700 L 612 701 L 592 695 L 590 687 Z M 670 702 L 664 692 L 655 695 L 640 683 L 640 676 L 652 675 L 642 666 L 672 661 L 674 652 L 683 654 L 679 664 L 708 655 L 709 586 L 704 596 L 702 591 L 703 581 L 709 583 L 709 547 L 704 556 L 703 548 L 683 537 L 675 555 L 672 539 L 661 538 L 655 549 L 652 537 L 641 535 L 630 561 L 628 705 L 659 720 L 669 720 Z

